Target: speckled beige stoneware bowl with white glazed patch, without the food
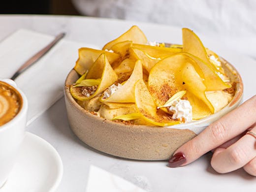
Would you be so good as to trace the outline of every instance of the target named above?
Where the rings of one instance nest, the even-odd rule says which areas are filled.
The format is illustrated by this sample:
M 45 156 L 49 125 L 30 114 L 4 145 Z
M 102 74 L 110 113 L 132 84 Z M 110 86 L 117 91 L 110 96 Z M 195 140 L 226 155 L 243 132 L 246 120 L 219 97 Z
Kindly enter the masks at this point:
M 168 128 L 124 125 L 86 111 L 69 92 L 69 86 L 79 78 L 76 71 L 71 70 L 64 87 L 70 127 L 80 140 L 98 151 L 134 160 L 167 160 L 183 143 L 195 137 L 242 101 L 243 83 L 239 73 L 225 60 L 222 62 L 226 74 L 231 81 L 237 83 L 235 95 L 230 103 L 207 118 Z

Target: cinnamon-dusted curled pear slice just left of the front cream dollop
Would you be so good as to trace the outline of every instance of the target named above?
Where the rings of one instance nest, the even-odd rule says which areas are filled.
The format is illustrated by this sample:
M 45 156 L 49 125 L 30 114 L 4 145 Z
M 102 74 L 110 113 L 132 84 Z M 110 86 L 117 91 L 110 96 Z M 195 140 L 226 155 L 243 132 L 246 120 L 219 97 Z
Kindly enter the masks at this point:
M 142 79 L 135 84 L 135 100 L 138 112 L 149 123 L 157 126 L 172 126 L 180 123 L 173 120 L 171 115 L 157 110 L 157 106 Z

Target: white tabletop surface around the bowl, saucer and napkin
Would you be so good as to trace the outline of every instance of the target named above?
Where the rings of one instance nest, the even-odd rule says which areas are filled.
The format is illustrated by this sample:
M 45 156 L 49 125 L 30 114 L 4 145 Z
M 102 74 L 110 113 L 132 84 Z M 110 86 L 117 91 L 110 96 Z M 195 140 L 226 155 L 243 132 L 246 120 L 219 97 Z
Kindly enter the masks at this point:
M 0 40 L 11 32 L 25 28 L 52 35 L 64 31 L 67 39 L 101 47 L 134 24 L 139 25 L 150 40 L 181 43 L 181 30 L 170 26 L 87 17 L 34 15 L 0 15 Z M 245 84 L 244 98 L 255 95 L 256 61 L 234 54 L 231 50 L 235 50 L 235 47 L 228 47 L 228 43 L 223 45 L 221 37 L 207 38 L 207 34 L 199 36 L 207 47 L 222 55 L 241 72 Z M 83 144 L 72 133 L 63 98 L 27 130 L 44 138 L 59 152 L 64 164 L 64 175 L 58 192 L 85 192 L 91 164 L 117 174 L 148 192 L 240 192 L 256 189 L 256 178 L 241 169 L 224 175 L 217 174 L 209 163 L 211 154 L 206 154 L 188 166 L 171 169 L 166 166 L 166 161 L 124 160 L 100 153 Z

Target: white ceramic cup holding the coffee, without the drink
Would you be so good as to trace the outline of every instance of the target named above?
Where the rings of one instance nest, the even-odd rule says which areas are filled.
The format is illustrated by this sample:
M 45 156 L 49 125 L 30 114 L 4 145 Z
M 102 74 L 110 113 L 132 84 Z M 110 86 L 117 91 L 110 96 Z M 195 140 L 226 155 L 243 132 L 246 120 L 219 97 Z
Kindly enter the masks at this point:
M 14 81 L 1 79 L 8 83 L 22 96 L 23 104 L 18 114 L 6 124 L 0 126 L 0 188 L 8 179 L 13 165 L 17 159 L 19 149 L 25 137 L 27 122 L 28 100 L 24 93 L 19 90 Z

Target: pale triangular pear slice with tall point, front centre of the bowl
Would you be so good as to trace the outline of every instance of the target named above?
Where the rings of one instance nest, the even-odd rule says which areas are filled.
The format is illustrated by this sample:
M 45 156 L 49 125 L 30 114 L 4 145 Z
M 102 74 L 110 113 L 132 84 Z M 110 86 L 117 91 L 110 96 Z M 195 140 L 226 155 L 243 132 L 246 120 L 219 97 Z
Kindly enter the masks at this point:
M 134 86 L 135 83 L 143 78 L 142 62 L 138 60 L 134 66 L 133 72 L 127 82 L 120 87 L 113 95 L 102 101 L 118 103 L 134 103 Z

